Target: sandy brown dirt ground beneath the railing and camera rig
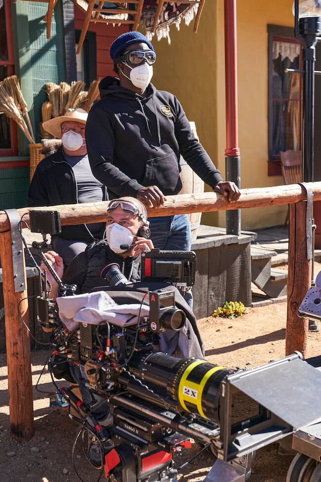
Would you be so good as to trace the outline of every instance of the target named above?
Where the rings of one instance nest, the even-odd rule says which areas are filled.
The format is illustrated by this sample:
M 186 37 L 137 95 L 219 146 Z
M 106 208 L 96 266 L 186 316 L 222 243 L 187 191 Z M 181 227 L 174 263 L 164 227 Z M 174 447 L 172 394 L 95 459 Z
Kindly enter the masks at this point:
M 203 318 L 199 320 L 208 361 L 228 367 L 255 367 L 279 359 L 285 354 L 286 304 L 248 308 L 248 313 L 233 320 Z M 321 332 L 310 333 L 308 356 L 320 354 Z M 46 360 L 44 351 L 32 353 L 33 384 L 40 376 Z M 58 385 L 66 385 L 59 382 Z M 39 389 L 52 390 L 45 370 Z M 34 390 L 36 433 L 32 440 L 19 443 L 9 434 L 9 407 L 7 369 L 4 354 L 0 354 L 0 481 L 2 482 L 76 482 L 71 452 L 78 424 L 61 408 L 49 408 L 46 394 Z M 175 455 L 176 467 L 198 451 L 191 449 Z M 285 482 L 292 456 L 278 454 L 278 444 L 258 450 L 252 463 L 250 482 Z M 83 453 L 77 452 L 76 462 L 85 481 L 97 480 L 97 471 L 87 469 Z M 207 475 L 213 460 L 202 454 L 182 470 L 180 481 L 201 481 Z M 102 478 L 101 480 L 105 480 Z M 219 481 L 224 482 L 224 481 Z

